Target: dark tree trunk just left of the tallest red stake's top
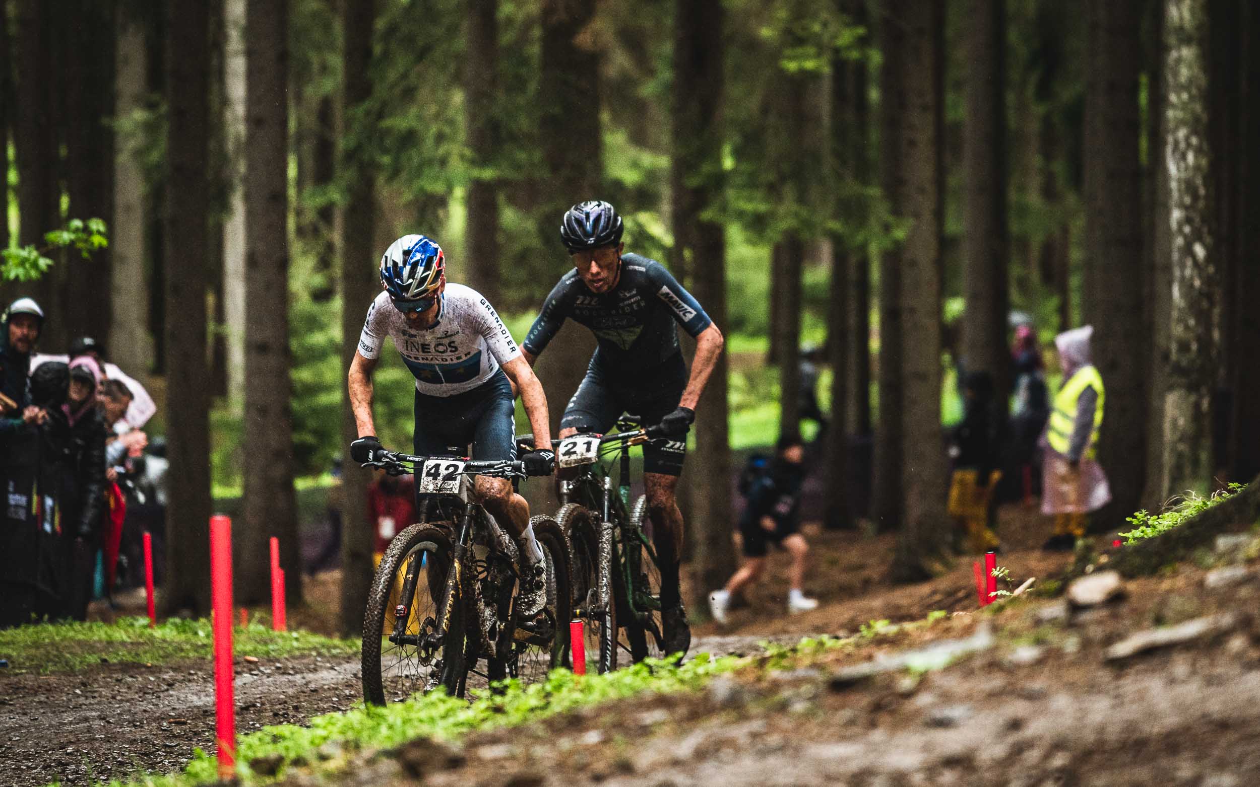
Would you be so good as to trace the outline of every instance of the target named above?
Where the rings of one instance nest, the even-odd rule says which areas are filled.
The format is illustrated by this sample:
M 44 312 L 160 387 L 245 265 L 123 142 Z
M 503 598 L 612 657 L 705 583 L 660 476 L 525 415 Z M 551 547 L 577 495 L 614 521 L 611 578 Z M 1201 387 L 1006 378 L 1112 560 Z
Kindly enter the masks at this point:
M 166 611 L 209 612 L 209 6 L 166 9 Z

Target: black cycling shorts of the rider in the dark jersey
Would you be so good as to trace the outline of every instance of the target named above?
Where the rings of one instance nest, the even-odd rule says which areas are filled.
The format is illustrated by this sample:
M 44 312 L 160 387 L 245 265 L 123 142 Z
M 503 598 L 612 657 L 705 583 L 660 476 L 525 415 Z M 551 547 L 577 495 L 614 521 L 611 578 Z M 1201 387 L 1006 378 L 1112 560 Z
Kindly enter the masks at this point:
M 635 373 L 630 380 L 609 374 L 595 356 L 582 384 L 568 400 L 559 427 L 607 434 L 622 413 L 638 416 L 644 427 L 651 427 L 674 412 L 685 388 L 687 361 L 682 353 L 654 369 Z M 643 447 L 643 470 L 678 476 L 685 457 L 685 437 L 653 441 Z

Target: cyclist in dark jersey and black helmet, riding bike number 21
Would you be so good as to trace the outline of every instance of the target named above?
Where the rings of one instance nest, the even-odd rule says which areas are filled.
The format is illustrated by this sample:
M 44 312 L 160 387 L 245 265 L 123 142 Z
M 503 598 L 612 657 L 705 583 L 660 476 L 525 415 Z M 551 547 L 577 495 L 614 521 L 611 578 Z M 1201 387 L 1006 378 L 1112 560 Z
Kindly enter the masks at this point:
M 559 436 L 606 433 L 622 412 L 648 426 L 660 423 L 673 439 L 644 447 L 644 486 L 660 562 L 664 650 L 687 652 L 690 630 L 678 591 L 683 515 L 675 501 L 696 404 L 722 353 L 722 331 L 668 269 L 639 254 L 622 254 L 621 217 L 604 201 L 573 205 L 561 241 L 573 259 L 547 296 L 522 345 L 530 364 L 564 320 L 591 329 L 597 340 L 586 378 L 564 409 Z M 696 339 L 690 373 L 675 325 Z

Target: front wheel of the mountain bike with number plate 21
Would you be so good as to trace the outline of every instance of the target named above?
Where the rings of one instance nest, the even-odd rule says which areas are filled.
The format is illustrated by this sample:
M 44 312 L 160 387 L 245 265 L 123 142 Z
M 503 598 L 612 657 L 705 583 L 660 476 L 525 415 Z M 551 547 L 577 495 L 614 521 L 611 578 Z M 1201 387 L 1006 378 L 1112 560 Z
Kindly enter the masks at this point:
M 591 612 L 598 598 L 601 575 L 600 519 L 591 509 L 570 502 L 559 510 L 556 520 L 568 535 L 573 550 L 573 612 L 582 621 L 586 659 L 595 659 L 596 671 L 611 672 L 617 669 L 617 604 L 611 588 L 607 609 Z M 602 567 L 605 578 L 611 575 L 611 565 Z

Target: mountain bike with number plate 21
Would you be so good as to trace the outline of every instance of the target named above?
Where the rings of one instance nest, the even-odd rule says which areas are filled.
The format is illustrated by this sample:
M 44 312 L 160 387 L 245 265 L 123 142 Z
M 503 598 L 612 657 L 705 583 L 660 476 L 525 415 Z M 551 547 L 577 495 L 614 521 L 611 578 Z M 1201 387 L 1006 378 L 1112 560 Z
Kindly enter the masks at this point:
M 615 670 L 619 652 L 633 661 L 663 657 L 660 569 L 651 541 L 648 499 L 630 505 L 630 447 L 660 436 L 658 428 L 617 422 L 616 434 L 575 434 L 559 442 L 556 463 L 577 467 L 561 481 L 556 521 L 573 554 L 573 607 L 585 623 L 588 654 L 600 672 Z M 620 466 L 614 490 L 612 458 Z M 606 466 L 601 460 L 607 460 Z

